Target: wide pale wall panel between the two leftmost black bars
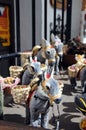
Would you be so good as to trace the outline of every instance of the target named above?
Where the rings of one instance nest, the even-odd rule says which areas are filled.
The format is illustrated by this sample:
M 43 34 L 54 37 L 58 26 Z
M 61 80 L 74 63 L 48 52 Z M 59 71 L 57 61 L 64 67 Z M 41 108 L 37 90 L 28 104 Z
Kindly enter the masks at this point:
M 32 49 L 32 0 L 20 0 L 21 51 Z

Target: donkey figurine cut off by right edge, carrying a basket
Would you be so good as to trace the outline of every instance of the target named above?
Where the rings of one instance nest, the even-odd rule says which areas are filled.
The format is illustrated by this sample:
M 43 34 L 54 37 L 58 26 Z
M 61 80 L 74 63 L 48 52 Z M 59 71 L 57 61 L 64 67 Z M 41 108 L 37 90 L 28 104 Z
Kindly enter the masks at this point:
M 73 72 L 75 73 L 75 76 L 70 75 L 69 73 L 69 78 L 70 78 L 70 83 L 73 88 L 76 87 L 77 85 L 77 78 L 80 79 L 81 81 L 81 87 L 82 87 L 82 92 L 86 92 L 86 58 L 84 55 L 76 54 L 75 55 L 76 59 L 76 64 L 73 64 L 68 67 L 73 69 Z M 72 70 L 69 70 L 72 72 Z

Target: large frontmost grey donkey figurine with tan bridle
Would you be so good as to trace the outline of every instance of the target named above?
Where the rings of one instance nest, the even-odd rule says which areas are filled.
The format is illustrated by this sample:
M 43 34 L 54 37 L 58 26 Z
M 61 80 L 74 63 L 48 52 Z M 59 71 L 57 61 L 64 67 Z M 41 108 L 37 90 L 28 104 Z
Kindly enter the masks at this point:
M 42 80 L 27 100 L 26 110 L 28 115 L 26 115 L 26 118 L 28 123 L 35 127 L 41 126 L 47 129 L 50 107 L 53 102 L 59 104 L 61 98 L 62 88 L 54 78 Z M 41 117 L 40 120 L 39 117 Z

